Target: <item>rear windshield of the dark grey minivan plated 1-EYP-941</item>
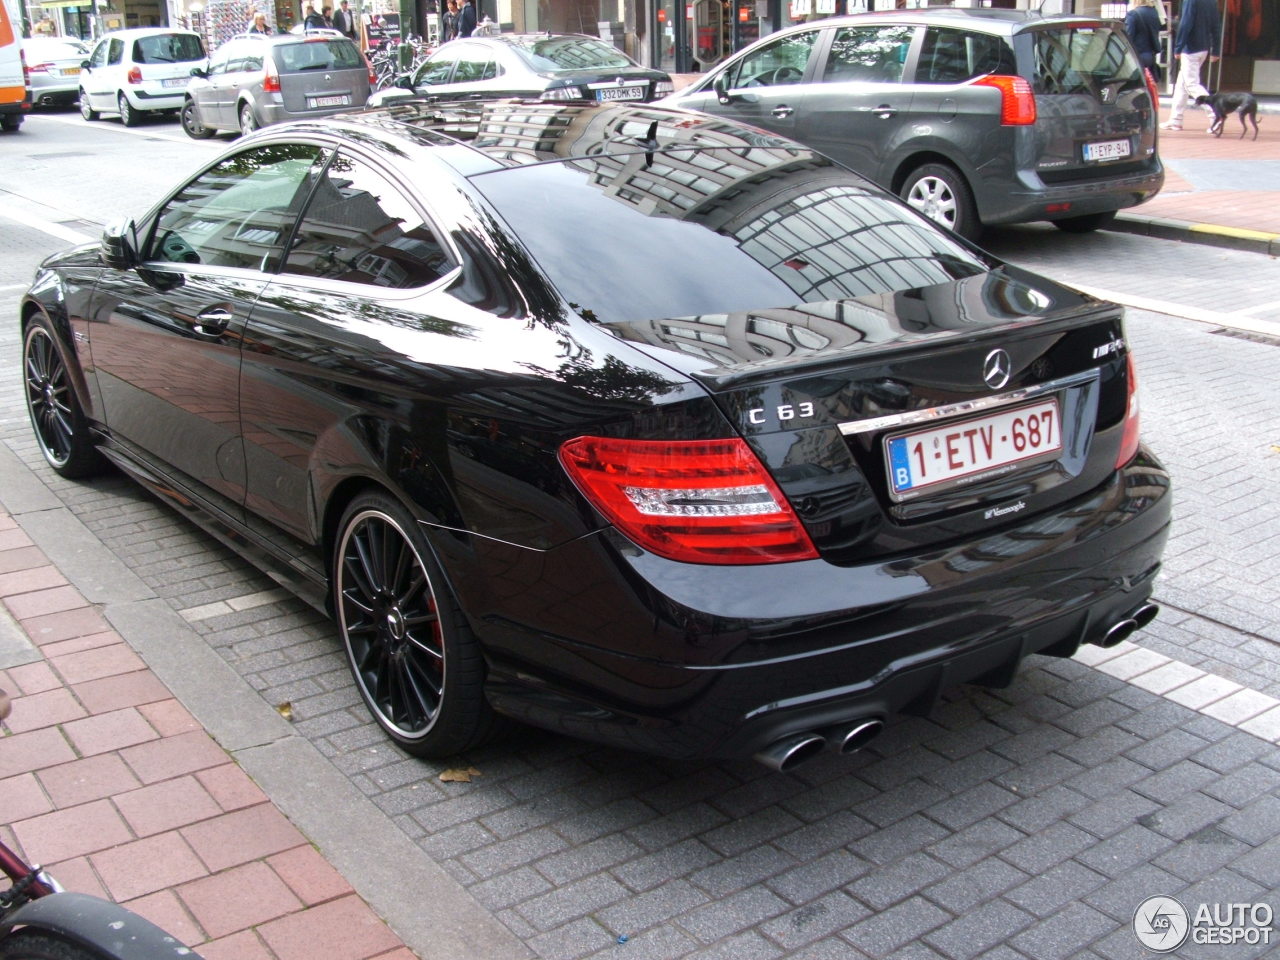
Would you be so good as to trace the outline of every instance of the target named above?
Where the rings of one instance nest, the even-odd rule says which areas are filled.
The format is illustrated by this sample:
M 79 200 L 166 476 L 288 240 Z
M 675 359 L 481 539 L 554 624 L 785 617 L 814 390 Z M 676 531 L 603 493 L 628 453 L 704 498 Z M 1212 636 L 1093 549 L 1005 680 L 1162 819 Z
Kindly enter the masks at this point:
M 1143 86 L 1138 58 L 1119 29 L 1064 27 L 1034 31 L 1032 36 L 1037 93 L 1098 96 L 1107 86 Z

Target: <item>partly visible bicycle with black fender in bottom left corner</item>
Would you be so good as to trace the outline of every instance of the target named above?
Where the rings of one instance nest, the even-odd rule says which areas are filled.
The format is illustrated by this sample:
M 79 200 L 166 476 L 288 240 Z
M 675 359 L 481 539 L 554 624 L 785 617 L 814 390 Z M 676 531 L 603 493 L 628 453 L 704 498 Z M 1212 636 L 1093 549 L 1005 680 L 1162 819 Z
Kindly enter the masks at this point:
M 13 704 L 0 690 L 0 723 Z M 0 841 L 0 960 L 200 960 L 177 937 L 110 900 L 63 890 Z

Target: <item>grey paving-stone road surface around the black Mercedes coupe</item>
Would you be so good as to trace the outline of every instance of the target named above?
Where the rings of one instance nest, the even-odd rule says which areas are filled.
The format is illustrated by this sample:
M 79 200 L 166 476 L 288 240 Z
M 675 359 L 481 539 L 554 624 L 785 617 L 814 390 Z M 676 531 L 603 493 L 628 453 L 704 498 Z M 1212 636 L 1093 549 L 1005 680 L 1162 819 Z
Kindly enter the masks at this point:
M 37 465 L 22 483 L 265 704 L 289 703 L 385 823 L 538 957 L 1130 960 L 1148 896 L 1280 908 L 1280 352 L 1143 312 L 1129 334 L 1144 431 L 1176 484 L 1165 614 L 1135 644 L 1034 658 L 1009 689 L 951 691 L 867 751 L 788 776 L 520 730 L 460 758 L 474 782 L 442 783 L 444 764 L 406 759 L 367 721 L 326 621 L 131 483 L 41 470 L 13 378 L 0 458 L 8 476 Z M 0 369 L 15 355 L 0 329 Z

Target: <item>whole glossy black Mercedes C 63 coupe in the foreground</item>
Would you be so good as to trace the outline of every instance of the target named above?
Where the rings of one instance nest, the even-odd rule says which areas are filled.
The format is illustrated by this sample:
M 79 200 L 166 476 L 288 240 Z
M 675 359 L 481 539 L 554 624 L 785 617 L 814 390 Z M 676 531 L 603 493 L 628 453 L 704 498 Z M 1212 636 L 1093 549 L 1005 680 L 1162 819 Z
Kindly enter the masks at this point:
M 1120 307 L 723 119 L 274 127 L 20 323 L 49 466 L 328 609 L 411 754 L 506 716 L 788 769 L 1156 613 Z

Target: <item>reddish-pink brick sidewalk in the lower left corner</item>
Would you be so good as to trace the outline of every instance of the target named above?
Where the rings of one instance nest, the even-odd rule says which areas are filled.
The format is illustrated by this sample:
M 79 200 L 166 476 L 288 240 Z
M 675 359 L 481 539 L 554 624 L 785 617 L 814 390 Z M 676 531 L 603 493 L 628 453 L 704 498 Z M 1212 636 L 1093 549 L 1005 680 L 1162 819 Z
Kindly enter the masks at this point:
M 5 842 L 206 960 L 413 959 L 3 511 L 0 602 Z

